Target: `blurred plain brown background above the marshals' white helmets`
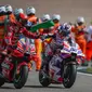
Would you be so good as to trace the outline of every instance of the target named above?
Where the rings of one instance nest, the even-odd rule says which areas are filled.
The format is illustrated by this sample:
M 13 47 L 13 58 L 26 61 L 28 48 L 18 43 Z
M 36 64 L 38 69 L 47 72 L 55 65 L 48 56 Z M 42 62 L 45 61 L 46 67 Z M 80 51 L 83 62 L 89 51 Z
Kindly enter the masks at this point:
M 78 16 L 86 18 L 87 25 L 92 21 L 92 0 L 0 0 L 0 5 L 13 8 L 35 6 L 37 16 L 49 13 L 61 14 L 61 22 L 75 22 Z

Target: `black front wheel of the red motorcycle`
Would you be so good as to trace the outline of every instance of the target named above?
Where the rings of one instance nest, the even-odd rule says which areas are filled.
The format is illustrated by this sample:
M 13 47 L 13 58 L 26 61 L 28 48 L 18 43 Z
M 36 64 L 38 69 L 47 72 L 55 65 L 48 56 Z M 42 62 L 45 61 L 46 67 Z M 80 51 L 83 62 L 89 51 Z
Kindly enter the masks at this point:
M 21 89 L 24 87 L 24 84 L 26 83 L 28 78 L 28 66 L 22 66 L 19 74 L 15 75 L 15 79 L 14 79 L 14 87 L 16 89 Z

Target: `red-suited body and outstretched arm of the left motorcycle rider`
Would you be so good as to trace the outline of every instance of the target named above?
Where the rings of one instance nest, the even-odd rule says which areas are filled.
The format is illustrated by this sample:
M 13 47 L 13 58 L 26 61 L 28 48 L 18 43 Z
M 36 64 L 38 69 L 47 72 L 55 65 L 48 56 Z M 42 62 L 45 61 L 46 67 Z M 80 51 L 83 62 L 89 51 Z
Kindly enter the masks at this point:
M 22 19 L 25 19 L 22 18 Z M 6 26 L 8 28 L 8 32 L 4 37 L 4 40 L 6 42 L 6 49 L 8 49 L 8 53 L 12 51 L 12 55 L 17 57 L 22 57 L 24 56 L 24 50 L 22 49 L 21 44 L 18 44 L 18 39 L 19 39 L 19 35 L 24 35 L 25 37 L 31 38 L 31 39 L 37 39 L 39 36 L 32 32 L 29 32 L 25 27 L 24 27 L 24 23 L 11 23 L 8 24 Z M 14 48 L 14 50 L 11 50 L 11 48 Z

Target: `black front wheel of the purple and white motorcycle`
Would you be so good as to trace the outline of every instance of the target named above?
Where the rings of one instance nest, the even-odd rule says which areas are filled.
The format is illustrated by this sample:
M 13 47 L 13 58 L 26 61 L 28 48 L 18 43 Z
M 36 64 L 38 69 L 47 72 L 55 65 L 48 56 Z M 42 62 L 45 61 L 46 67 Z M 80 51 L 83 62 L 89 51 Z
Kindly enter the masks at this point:
M 64 81 L 65 88 L 71 88 L 77 76 L 77 66 L 69 64 L 64 67 Z

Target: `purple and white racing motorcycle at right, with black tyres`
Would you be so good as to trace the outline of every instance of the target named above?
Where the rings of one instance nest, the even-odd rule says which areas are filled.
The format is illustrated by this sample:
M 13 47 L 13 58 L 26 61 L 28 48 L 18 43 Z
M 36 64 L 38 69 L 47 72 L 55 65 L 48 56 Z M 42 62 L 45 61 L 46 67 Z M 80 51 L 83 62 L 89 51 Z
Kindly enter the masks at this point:
M 73 45 L 68 41 L 64 41 L 63 45 L 60 54 L 53 55 L 49 61 L 48 71 L 45 71 L 47 58 L 49 58 L 48 53 L 50 53 L 50 49 L 45 43 L 44 58 L 42 58 L 39 71 L 39 81 L 43 87 L 53 83 L 71 88 L 76 80 L 78 61 L 83 60 L 84 55 L 75 41 L 73 41 Z

